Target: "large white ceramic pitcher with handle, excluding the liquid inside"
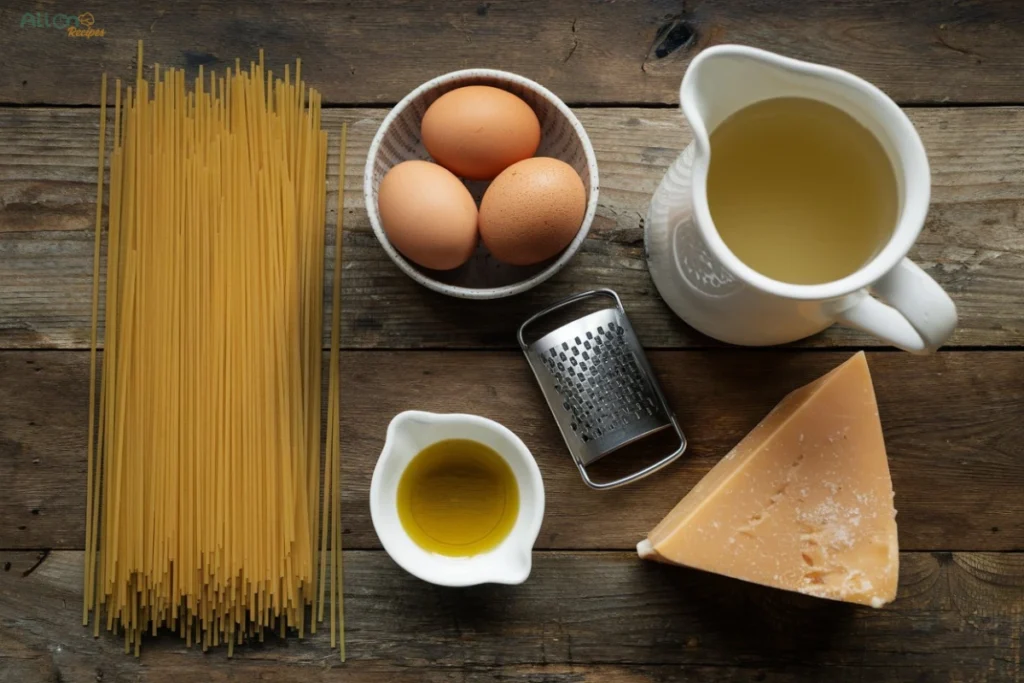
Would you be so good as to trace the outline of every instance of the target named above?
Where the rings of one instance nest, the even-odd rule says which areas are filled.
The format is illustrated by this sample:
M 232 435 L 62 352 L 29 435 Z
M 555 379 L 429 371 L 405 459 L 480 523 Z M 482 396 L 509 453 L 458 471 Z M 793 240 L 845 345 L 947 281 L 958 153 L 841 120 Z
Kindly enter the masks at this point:
M 731 114 L 775 97 L 837 106 L 871 131 L 899 183 L 889 242 L 856 272 L 822 285 L 791 285 L 757 272 L 726 247 L 708 206 L 711 133 Z M 781 344 L 840 323 L 908 351 L 934 351 L 952 334 L 949 296 L 906 258 L 931 193 L 918 131 L 877 87 L 847 72 L 741 45 L 720 45 L 690 63 L 680 88 L 693 141 L 662 180 L 644 230 L 651 276 L 669 306 L 698 331 L 743 345 Z

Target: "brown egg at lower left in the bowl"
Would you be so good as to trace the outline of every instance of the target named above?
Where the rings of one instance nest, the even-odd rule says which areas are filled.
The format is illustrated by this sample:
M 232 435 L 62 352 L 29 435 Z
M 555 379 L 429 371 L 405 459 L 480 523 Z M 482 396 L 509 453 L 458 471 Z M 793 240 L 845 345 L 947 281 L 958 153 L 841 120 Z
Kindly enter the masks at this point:
M 436 164 L 407 161 L 392 168 L 381 180 L 377 206 L 387 239 L 425 268 L 458 268 L 476 248 L 473 197 Z

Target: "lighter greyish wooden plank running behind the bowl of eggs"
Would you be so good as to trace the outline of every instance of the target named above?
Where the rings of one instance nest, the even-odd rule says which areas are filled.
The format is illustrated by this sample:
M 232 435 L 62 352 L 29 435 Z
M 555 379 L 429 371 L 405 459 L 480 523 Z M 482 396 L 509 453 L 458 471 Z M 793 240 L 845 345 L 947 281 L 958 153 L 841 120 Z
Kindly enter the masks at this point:
M 643 258 L 642 217 L 665 169 L 689 141 L 688 129 L 674 111 L 579 113 L 601 168 L 601 204 L 591 239 L 549 283 L 508 300 L 473 302 L 415 284 L 370 231 L 362 165 L 383 112 L 327 112 L 329 130 L 341 121 L 351 126 L 343 343 L 508 348 L 517 325 L 545 305 L 585 289 L 611 287 L 646 345 L 714 345 L 662 302 Z M 934 182 L 931 215 L 912 256 L 957 303 L 961 323 L 951 343 L 1024 344 L 1024 108 L 909 114 L 930 152 Z M 0 348 L 88 344 L 95 135 L 92 111 L 0 109 Z M 332 175 L 332 212 L 336 182 Z M 333 262 L 333 247 L 328 258 Z M 834 329 L 803 345 L 878 343 Z

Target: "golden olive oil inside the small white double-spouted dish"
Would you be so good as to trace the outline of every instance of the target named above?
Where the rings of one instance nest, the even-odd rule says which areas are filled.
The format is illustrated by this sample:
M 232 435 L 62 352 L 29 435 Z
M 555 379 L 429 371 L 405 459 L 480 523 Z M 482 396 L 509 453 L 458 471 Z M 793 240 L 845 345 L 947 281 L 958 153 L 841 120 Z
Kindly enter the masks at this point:
M 432 443 L 398 480 L 398 519 L 406 533 L 440 555 L 466 557 L 496 548 L 518 515 L 512 468 L 477 441 Z

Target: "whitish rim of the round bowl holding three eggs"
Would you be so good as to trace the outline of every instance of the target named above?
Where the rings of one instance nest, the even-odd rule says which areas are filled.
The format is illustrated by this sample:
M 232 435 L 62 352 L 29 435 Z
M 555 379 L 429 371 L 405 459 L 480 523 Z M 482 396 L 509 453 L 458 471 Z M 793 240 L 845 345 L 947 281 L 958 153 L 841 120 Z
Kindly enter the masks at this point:
M 565 120 L 569 122 L 572 126 L 572 130 L 575 131 L 581 142 L 583 142 L 584 156 L 587 158 L 587 166 L 590 170 L 590 197 L 587 202 L 587 213 L 583 217 L 583 224 L 580 226 L 580 231 L 572 239 L 559 257 L 551 263 L 548 267 L 540 272 L 530 275 L 529 278 L 522 280 L 518 283 L 513 283 L 512 285 L 504 285 L 502 287 L 492 287 L 492 288 L 471 288 L 471 287 L 459 287 L 458 285 L 449 285 L 446 283 L 438 282 L 424 272 L 420 271 L 416 266 L 410 263 L 406 257 L 398 253 L 398 251 L 391 246 L 388 241 L 387 236 L 384 233 L 384 228 L 381 226 L 379 210 L 377 208 L 377 200 L 374 197 L 373 190 L 373 175 L 374 166 L 377 160 L 377 155 L 381 146 L 381 142 L 384 139 L 384 135 L 390 129 L 392 122 L 398 118 L 399 115 L 410 105 L 411 102 L 416 100 L 420 95 L 422 95 L 427 90 L 441 85 L 447 81 L 457 81 L 462 79 L 483 79 L 483 78 L 495 78 L 503 79 L 507 81 L 512 81 L 523 88 L 532 90 L 540 94 L 542 97 L 547 99 L 550 103 L 554 104 L 555 109 L 565 117 Z M 435 292 L 440 292 L 441 294 L 446 294 L 449 296 L 458 297 L 460 299 L 501 299 L 503 297 L 513 296 L 515 294 L 520 294 L 526 290 L 532 289 L 545 282 L 556 272 L 565 267 L 565 264 L 569 262 L 575 253 L 580 250 L 580 246 L 583 244 L 584 240 L 587 239 L 587 234 L 590 232 L 590 225 L 594 221 L 594 215 L 597 213 L 597 198 L 598 190 L 600 189 L 600 182 L 597 175 L 597 156 L 594 154 L 594 145 L 591 144 L 590 136 L 587 135 L 587 131 L 584 130 L 583 124 L 577 119 L 572 111 L 563 102 L 557 95 L 545 88 L 540 83 L 532 81 L 523 76 L 517 74 L 512 74 L 506 71 L 500 71 L 497 69 L 463 69 L 461 71 L 454 71 L 437 78 L 433 78 L 423 85 L 419 86 L 408 95 L 401 98 L 394 108 L 388 112 L 388 115 L 384 117 L 384 121 L 381 123 L 380 128 L 377 129 L 377 134 L 374 135 L 373 142 L 370 144 L 370 152 L 367 154 L 367 165 L 362 172 L 362 198 L 367 206 L 367 214 L 370 216 L 370 225 L 374 229 L 374 234 L 377 236 L 377 241 L 384 248 L 387 255 L 394 261 L 402 272 L 407 275 L 423 285 L 424 287 L 431 289 Z

